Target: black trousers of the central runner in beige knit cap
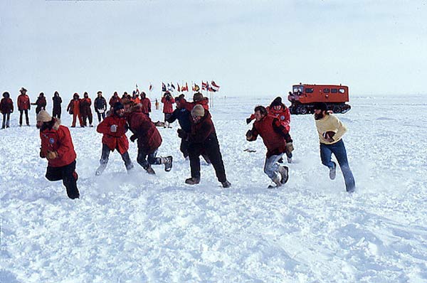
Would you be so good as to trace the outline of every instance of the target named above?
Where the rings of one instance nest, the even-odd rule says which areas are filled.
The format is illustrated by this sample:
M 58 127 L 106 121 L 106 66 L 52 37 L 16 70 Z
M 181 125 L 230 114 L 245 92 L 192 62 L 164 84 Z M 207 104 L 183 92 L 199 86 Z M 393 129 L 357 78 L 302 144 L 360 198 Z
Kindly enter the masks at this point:
M 189 159 L 191 168 L 191 177 L 200 178 L 200 158 L 202 154 L 206 154 L 214 166 L 216 178 L 218 181 L 225 182 L 226 169 L 219 149 L 218 139 L 216 134 L 211 134 L 203 143 L 190 143 L 189 146 Z

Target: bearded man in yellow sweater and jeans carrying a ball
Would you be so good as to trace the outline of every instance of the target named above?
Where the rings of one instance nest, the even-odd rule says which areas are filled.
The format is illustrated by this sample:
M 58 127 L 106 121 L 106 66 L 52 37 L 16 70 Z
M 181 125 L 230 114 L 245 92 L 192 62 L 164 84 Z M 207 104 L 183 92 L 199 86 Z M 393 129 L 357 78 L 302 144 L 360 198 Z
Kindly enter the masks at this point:
M 313 109 L 315 110 L 317 133 L 319 134 L 322 164 L 330 169 L 330 179 L 334 180 L 337 170 L 337 164 L 331 160 L 332 154 L 334 154 L 344 176 L 345 188 L 348 193 L 352 193 L 356 185 L 342 141 L 342 136 L 347 132 L 347 127 L 337 117 L 327 112 L 326 103 L 317 102 Z

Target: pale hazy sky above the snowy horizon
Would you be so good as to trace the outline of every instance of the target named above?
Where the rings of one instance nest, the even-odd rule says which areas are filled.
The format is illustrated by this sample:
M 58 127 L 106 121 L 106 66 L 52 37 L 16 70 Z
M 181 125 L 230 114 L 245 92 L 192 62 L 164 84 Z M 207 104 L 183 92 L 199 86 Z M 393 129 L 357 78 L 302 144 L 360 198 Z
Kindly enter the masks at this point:
M 427 1 L 0 0 L 0 88 L 63 97 L 214 80 L 218 95 L 427 94 Z

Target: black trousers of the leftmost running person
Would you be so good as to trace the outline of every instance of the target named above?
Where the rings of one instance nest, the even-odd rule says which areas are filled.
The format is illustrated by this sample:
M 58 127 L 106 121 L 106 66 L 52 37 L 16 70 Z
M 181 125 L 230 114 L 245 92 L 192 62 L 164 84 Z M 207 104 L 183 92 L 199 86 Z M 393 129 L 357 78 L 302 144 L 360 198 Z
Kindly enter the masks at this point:
M 46 178 L 49 181 L 63 181 L 63 185 L 67 189 L 68 198 L 79 198 L 80 193 L 77 188 L 77 173 L 75 173 L 75 161 L 72 163 L 61 166 L 51 167 L 48 166 L 46 171 Z

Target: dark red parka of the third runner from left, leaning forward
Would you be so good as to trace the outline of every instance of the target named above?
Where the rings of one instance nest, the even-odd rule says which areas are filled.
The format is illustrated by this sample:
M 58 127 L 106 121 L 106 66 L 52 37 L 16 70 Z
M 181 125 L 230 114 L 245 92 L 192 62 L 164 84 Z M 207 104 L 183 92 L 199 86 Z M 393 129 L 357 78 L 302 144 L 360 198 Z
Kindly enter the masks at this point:
M 132 133 L 137 136 L 138 149 L 142 149 L 146 154 L 151 154 L 162 144 L 162 136 L 149 117 L 142 113 L 138 105 L 132 108 L 132 112 L 127 117 Z

